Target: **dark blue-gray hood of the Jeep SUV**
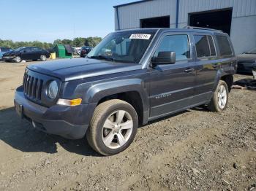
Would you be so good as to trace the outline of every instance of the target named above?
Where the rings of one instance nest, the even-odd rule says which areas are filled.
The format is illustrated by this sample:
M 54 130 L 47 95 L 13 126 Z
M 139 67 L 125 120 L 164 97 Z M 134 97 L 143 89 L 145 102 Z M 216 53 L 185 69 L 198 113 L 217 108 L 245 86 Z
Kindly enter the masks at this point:
M 58 77 L 62 82 L 86 77 L 96 77 L 105 74 L 113 74 L 124 71 L 141 69 L 141 65 L 135 63 L 116 63 L 89 58 L 71 58 L 57 61 L 47 61 L 28 68 L 41 74 Z

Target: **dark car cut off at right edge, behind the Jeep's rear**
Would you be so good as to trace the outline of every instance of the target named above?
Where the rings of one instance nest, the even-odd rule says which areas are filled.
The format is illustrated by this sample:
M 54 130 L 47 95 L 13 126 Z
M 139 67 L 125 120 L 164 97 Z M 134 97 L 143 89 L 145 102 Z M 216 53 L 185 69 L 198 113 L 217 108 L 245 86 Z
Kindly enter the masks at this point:
M 252 69 L 256 69 L 256 47 L 238 55 L 237 58 L 239 73 L 252 74 Z

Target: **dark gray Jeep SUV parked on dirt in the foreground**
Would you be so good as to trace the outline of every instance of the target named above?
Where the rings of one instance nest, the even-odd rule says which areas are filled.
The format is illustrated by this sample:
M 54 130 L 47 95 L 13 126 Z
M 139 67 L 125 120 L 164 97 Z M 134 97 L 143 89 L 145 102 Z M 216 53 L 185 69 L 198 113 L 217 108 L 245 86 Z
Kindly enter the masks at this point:
M 26 68 L 15 109 L 34 128 L 123 151 L 138 125 L 195 106 L 222 112 L 236 73 L 229 36 L 205 28 L 117 31 L 86 58 Z

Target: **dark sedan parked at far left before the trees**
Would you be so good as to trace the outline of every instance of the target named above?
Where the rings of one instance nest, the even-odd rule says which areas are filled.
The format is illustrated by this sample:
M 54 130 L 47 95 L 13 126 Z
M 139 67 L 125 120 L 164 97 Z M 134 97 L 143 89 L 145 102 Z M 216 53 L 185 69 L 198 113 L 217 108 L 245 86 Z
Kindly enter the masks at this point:
M 19 63 L 20 61 L 46 61 L 50 57 L 48 51 L 43 50 L 39 47 L 19 47 L 18 49 L 6 52 L 3 55 L 4 61 L 14 61 Z

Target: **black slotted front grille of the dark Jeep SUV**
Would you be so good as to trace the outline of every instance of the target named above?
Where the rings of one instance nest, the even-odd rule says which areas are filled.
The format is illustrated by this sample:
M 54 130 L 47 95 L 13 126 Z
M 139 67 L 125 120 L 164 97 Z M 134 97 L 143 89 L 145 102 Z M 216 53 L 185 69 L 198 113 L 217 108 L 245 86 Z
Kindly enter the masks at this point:
M 23 90 L 24 94 L 35 101 L 41 100 L 43 80 L 33 77 L 29 74 L 24 74 Z

